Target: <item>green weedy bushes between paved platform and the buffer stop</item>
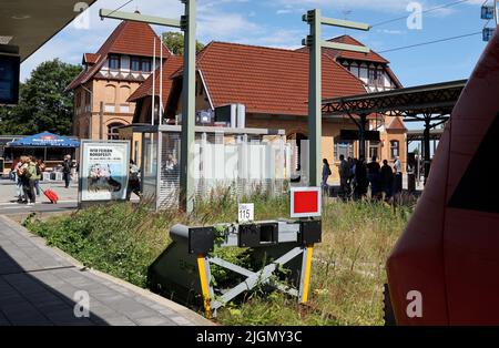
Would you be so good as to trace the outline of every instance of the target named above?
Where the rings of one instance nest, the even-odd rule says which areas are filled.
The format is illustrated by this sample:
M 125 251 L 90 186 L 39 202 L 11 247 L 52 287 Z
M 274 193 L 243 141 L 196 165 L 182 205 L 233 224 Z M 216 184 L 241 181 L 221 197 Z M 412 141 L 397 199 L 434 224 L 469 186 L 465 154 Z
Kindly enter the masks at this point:
M 147 267 L 169 243 L 165 214 L 151 214 L 145 206 L 110 204 L 79 211 L 70 216 L 24 223 L 88 267 L 145 287 Z

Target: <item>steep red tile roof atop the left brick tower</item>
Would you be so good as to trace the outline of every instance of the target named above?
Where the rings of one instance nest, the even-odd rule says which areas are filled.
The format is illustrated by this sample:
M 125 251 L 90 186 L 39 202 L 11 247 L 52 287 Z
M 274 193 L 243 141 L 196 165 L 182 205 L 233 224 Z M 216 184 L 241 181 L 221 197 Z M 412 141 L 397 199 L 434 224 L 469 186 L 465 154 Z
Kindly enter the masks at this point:
M 65 89 L 73 90 L 89 81 L 104 64 L 109 53 L 152 57 L 154 39 L 160 40 L 149 24 L 122 21 L 95 53 L 95 55 L 101 57 L 99 62 L 86 71 L 83 70 Z M 156 54 L 160 55 L 157 43 L 159 41 L 156 41 Z M 166 45 L 162 44 L 162 49 L 164 58 L 169 58 L 172 54 Z

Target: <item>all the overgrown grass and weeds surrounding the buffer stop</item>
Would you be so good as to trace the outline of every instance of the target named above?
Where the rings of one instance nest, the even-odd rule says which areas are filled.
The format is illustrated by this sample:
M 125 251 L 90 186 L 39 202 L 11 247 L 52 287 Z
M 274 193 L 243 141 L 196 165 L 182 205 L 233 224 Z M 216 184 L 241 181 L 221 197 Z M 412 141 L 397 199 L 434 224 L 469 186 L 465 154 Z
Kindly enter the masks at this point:
M 256 219 L 288 215 L 285 196 L 259 193 L 240 202 L 255 204 Z M 233 222 L 236 203 L 222 191 L 200 202 L 191 216 L 151 213 L 144 205 L 123 203 L 47 222 L 32 216 L 24 225 L 84 265 L 145 287 L 147 267 L 170 243 L 172 225 Z M 410 207 L 394 211 L 383 203 L 326 201 L 323 243 L 314 250 L 310 307 L 298 308 L 294 298 L 259 289 L 221 309 L 217 320 L 226 325 L 381 325 L 384 265 L 410 213 Z M 222 253 L 232 262 L 245 262 L 240 252 Z M 217 280 L 230 276 L 221 269 L 214 275 Z

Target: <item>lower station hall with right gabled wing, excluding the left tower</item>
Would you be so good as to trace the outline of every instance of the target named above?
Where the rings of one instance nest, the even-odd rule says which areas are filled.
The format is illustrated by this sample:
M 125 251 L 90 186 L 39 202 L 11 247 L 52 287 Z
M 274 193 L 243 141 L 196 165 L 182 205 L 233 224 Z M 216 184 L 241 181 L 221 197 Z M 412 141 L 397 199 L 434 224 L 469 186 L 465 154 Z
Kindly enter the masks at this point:
M 349 37 L 339 42 L 361 45 Z M 357 55 L 359 54 L 359 55 Z M 285 130 L 287 140 L 296 141 L 293 149 L 293 171 L 298 171 L 299 143 L 307 139 L 308 52 L 304 49 L 284 50 L 227 42 L 211 42 L 197 55 L 196 111 L 213 112 L 227 104 L 244 104 L 245 126 Z M 160 104 L 160 73 L 155 78 L 155 108 Z M 163 120 L 152 113 L 152 78 L 133 93 L 133 123 L 175 124 L 182 113 L 182 59 L 170 57 L 163 65 Z M 388 62 L 376 54 L 344 54 L 323 51 L 323 98 L 364 94 L 400 88 Z M 380 132 L 380 141 L 369 142 L 366 156 L 393 161 L 400 156 L 406 163 L 406 127 L 400 117 L 369 115 L 369 129 Z M 332 180 L 338 180 L 339 155 L 358 157 L 358 142 L 343 140 L 340 130 L 357 125 L 342 115 L 323 121 L 323 156 L 332 164 Z M 293 175 L 293 173 L 292 173 Z

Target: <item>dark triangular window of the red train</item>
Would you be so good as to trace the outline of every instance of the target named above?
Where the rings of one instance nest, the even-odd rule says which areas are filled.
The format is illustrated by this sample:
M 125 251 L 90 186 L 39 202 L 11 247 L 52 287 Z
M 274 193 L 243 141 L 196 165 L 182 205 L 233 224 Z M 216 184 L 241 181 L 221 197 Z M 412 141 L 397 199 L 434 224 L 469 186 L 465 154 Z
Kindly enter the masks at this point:
M 499 114 L 496 115 L 492 125 L 456 187 L 449 202 L 450 207 L 499 213 L 498 149 Z

